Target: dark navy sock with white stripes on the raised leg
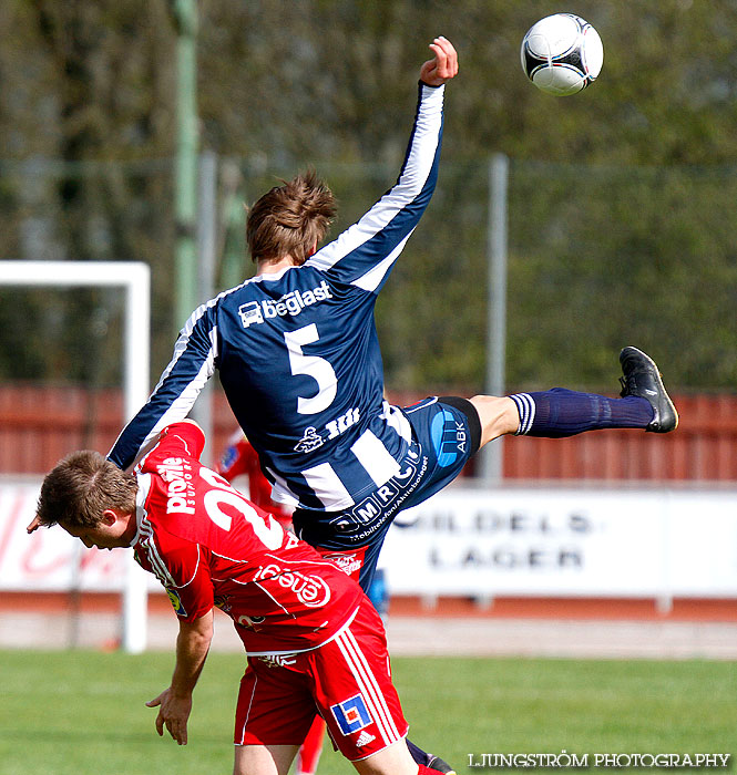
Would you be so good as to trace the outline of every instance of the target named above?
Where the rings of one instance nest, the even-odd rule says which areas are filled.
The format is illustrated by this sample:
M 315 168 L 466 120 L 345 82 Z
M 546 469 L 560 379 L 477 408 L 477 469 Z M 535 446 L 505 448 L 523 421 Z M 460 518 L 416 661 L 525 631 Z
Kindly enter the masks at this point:
M 515 393 L 510 399 L 520 412 L 518 435 L 563 438 L 602 428 L 645 428 L 653 420 L 649 402 L 635 395 L 607 399 L 553 388 L 542 393 Z

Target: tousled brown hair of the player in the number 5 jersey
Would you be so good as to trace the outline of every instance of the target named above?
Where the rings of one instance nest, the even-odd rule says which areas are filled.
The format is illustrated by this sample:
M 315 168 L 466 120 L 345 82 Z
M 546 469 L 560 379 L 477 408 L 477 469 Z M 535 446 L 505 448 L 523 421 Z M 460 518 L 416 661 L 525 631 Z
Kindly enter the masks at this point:
M 332 192 L 315 172 L 297 175 L 256 202 L 248 214 L 246 240 L 254 261 L 291 256 L 298 265 L 327 234 L 337 208 Z

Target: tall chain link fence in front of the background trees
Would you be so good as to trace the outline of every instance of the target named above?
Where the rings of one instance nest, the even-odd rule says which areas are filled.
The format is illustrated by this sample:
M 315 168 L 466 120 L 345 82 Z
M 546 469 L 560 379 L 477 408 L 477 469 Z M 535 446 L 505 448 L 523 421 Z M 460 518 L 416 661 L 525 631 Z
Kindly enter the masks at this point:
M 378 303 L 387 384 L 484 389 L 489 159 L 447 161 Z M 387 165 L 314 165 L 336 193 L 332 235 L 393 182 Z M 253 273 L 244 203 L 297 172 L 218 159 L 216 289 Z M 737 384 L 733 167 L 588 167 L 510 161 L 506 386 L 612 392 L 636 344 L 680 390 Z M 0 258 L 142 260 L 152 267 L 152 380 L 171 355 L 173 163 L 0 164 Z M 120 384 L 114 292 L 0 289 L 0 379 Z

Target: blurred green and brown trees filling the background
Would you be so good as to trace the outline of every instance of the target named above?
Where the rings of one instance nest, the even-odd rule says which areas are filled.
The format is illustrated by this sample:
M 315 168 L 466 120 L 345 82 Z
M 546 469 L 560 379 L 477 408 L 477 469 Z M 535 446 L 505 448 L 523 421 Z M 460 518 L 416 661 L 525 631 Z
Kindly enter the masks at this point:
M 636 343 L 665 361 L 671 383 L 734 390 L 737 7 L 582 0 L 604 69 L 565 99 L 540 93 L 519 65 L 524 31 L 557 10 L 207 0 L 202 145 L 239 169 L 227 193 L 239 186 L 246 203 L 316 167 L 338 194 L 339 229 L 396 175 L 418 65 L 442 33 L 461 73 L 448 89 L 438 192 L 379 302 L 390 385 L 483 388 L 487 165 L 502 152 L 510 384 L 611 389 L 617 348 Z M 11 84 L 0 92 L 0 258 L 147 261 L 155 373 L 172 349 L 174 46 L 166 0 L 0 4 Z M 0 302 L 3 379 L 119 380 L 120 353 L 90 333 L 120 327 L 114 298 L 2 291 Z

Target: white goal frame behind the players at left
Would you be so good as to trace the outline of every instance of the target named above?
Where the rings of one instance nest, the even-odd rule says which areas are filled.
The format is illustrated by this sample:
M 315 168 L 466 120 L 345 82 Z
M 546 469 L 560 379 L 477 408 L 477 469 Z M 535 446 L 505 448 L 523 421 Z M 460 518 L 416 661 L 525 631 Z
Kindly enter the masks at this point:
M 125 291 L 123 328 L 124 422 L 149 399 L 151 338 L 151 269 L 142 261 L 4 261 L 0 287 L 104 287 Z M 146 648 L 147 586 L 144 571 L 126 552 L 123 586 L 123 649 L 137 654 Z

